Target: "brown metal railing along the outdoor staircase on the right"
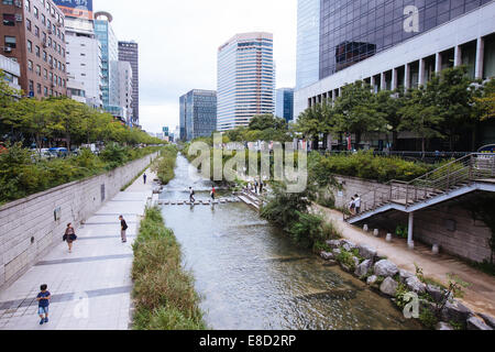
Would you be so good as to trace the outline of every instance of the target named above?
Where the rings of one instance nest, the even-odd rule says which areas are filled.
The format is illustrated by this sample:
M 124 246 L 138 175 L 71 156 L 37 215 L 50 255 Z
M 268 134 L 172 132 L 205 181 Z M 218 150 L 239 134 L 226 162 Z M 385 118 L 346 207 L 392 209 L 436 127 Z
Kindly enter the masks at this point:
M 427 199 L 449 194 L 480 179 L 495 178 L 495 154 L 472 153 L 448 163 L 411 182 L 391 180 L 362 195 L 360 213 L 397 202 L 406 208 Z M 358 215 L 346 216 L 349 220 Z

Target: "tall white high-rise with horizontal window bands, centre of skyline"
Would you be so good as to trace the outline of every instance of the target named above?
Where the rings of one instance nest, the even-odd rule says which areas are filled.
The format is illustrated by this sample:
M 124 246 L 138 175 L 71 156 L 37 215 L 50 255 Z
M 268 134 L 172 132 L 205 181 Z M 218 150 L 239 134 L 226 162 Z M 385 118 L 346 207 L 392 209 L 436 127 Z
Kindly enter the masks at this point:
M 218 131 L 248 125 L 275 112 L 273 35 L 234 35 L 218 50 Z

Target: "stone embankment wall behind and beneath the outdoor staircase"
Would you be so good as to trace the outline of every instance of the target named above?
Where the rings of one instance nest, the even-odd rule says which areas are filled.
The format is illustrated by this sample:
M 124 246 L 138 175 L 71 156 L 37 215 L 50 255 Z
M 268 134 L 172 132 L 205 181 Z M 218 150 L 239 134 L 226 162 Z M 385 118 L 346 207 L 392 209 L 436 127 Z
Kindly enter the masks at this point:
M 359 194 L 363 201 L 372 201 L 373 189 L 377 193 L 389 193 L 389 186 L 354 177 L 337 177 L 342 185 L 342 191 L 334 191 L 336 206 L 346 207 L 351 197 Z M 463 199 L 476 197 L 475 194 L 459 199 L 426 208 L 415 212 L 415 241 L 428 245 L 438 244 L 440 251 L 460 257 L 483 262 L 490 258 L 491 230 L 481 220 L 474 220 L 469 209 L 463 207 Z M 371 229 L 395 233 L 398 224 L 406 226 L 408 216 L 405 212 L 392 210 L 363 221 Z

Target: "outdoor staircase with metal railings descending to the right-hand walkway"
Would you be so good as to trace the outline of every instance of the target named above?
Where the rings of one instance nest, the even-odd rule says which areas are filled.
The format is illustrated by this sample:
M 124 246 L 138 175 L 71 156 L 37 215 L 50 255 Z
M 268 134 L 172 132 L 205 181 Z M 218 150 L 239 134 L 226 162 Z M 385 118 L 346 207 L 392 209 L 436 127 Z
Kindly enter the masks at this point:
M 495 154 L 473 153 L 409 183 L 392 180 L 361 196 L 361 212 L 344 220 L 355 223 L 392 209 L 414 212 L 475 190 L 495 191 Z

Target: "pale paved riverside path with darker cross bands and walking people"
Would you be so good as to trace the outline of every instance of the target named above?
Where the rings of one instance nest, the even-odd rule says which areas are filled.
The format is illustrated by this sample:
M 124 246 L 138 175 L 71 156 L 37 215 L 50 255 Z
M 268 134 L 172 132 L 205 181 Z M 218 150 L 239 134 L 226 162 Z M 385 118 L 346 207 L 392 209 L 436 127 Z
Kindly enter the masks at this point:
M 127 330 L 130 323 L 132 243 L 153 178 L 139 177 L 76 228 L 73 253 L 56 245 L 9 288 L 0 292 L 2 330 Z M 128 243 L 120 239 L 119 215 L 128 222 Z M 35 297 L 40 285 L 52 294 L 50 322 L 40 326 Z

